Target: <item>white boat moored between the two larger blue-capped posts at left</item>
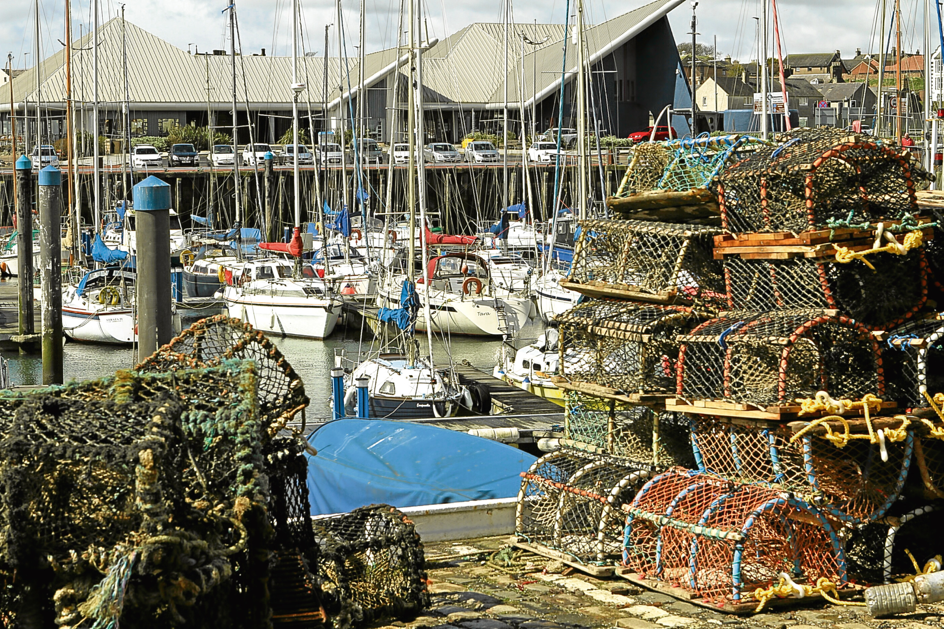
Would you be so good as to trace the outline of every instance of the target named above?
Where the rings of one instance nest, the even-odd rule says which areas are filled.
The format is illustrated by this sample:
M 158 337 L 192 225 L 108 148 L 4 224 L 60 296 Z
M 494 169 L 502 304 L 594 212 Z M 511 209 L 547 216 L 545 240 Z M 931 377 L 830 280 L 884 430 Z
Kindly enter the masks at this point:
M 62 331 L 74 341 L 124 345 L 136 336 L 136 275 L 120 268 L 86 273 L 62 291 Z

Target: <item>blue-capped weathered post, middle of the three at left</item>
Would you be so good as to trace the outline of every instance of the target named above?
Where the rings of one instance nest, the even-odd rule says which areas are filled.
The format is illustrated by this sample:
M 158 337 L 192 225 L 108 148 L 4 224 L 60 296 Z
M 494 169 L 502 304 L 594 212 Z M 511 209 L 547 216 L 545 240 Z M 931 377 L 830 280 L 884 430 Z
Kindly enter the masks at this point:
M 62 173 L 40 171 L 40 283 L 42 284 L 42 383 L 62 383 Z M 29 224 L 29 237 L 33 237 Z M 30 287 L 32 282 L 30 281 Z

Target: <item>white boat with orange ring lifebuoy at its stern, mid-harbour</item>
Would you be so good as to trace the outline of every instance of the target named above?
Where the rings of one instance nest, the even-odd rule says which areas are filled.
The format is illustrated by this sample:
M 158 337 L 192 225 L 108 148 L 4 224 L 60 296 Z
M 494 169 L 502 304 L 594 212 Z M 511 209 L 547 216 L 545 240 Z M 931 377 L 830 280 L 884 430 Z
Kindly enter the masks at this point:
M 471 253 L 449 253 L 429 262 L 430 286 L 416 280 L 420 304 L 429 301 L 416 318 L 416 330 L 475 336 L 510 336 L 520 331 L 531 314 L 531 299 L 497 289 L 488 267 Z M 397 308 L 405 276 L 397 276 L 379 291 L 378 305 Z

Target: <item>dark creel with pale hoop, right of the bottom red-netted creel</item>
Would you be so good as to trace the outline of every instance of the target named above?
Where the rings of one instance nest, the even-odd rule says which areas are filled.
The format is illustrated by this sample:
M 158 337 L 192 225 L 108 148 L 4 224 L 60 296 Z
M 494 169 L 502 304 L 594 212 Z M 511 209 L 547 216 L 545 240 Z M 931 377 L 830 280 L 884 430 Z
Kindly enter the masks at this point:
M 915 574 L 908 553 L 919 569 L 944 553 L 941 526 L 944 511 L 940 505 L 914 507 L 913 501 L 896 502 L 885 519 L 851 529 L 846 540 L 850 578 L 861 584 L 883 584 Z

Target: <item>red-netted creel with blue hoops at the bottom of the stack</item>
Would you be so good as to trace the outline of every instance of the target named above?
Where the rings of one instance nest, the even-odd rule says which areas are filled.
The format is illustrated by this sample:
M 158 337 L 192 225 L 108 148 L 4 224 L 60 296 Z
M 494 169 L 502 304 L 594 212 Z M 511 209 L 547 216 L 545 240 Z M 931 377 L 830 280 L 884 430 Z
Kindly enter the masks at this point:
M 624 565 L 706 602 L 741 601 L 781 572 L 801 583 L 846 581 L 829 521 L 783 491 L 676 469 L 649 481 L 624 510 Z

